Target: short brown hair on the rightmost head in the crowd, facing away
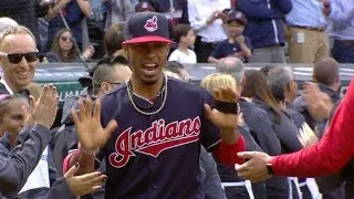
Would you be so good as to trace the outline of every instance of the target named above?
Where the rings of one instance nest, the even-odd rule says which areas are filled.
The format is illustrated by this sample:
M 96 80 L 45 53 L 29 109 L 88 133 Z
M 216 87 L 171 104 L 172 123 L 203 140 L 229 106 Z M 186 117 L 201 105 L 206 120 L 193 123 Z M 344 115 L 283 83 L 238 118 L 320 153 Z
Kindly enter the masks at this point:
M 332 85 L 339 78 L 339 63 L 332 57 L 325 57 L 313 65 L 313 81 Z

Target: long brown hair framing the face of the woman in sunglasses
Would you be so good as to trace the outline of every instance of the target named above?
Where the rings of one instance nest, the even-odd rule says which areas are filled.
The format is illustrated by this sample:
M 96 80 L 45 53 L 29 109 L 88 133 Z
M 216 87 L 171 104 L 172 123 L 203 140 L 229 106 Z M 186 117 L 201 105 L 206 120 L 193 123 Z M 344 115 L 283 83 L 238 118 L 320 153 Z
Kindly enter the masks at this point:
M 65 32 L 70 32 L 70 31 L 67 29 L 61 29 L 60 31 L 56 32 L 54 40 L 53 40 L 53 44 L 52 44 L 52 52 L 59 54 L 59 57 L 62 62 L 75 62 L 79 56 L 79 52 L 76 51 L 76 49 L 77 49 L 76 42 L 72 41 L 73 46 L 67 52 L 67 56 L 64 56 L 62 50 L 60 49 L 60 38 Z M 73 36 L 73 35 L 71 34 L 71 36 Z

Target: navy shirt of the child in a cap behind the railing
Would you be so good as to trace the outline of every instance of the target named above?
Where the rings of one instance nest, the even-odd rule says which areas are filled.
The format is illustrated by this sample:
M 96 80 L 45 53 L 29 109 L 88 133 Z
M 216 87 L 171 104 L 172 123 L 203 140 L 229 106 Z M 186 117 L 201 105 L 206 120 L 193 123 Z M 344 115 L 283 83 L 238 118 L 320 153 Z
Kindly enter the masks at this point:
M 244 36 L 244 44 L 252 50 L 250 39 Z M 240 44 L 238 42 L 230 43 L 229 39 L 221 41 L 217 48 L 212 51 L 211 56 L 215 59 L 222 59 L 227 56 L 238 56 L 237 53 L 241 52 Z

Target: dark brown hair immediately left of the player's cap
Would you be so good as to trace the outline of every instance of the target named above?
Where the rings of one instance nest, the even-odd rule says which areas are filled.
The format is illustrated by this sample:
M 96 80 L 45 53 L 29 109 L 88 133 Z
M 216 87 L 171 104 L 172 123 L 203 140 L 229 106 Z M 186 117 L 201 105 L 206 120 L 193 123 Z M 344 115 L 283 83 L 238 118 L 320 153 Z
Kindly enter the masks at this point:
M 116 51 L 121 50 L 124 42 L 124 23 L 112 25 L 104 34 L 104 49 L 107 55 L 113 55 Z

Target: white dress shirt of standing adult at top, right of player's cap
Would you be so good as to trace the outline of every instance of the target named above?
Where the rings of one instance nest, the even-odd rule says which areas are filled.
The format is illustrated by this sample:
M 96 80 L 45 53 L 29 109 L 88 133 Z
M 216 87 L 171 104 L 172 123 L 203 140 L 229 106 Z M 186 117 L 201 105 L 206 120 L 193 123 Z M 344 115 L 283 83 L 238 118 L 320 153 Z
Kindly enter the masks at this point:
M 221 19 L 207 24 L 207 20 L 216 10 L 230 9 L 230 0 L 188 0 L 188 17 L 190 27 L 202 42 L 219 42 L 228 36 L 223 30 Z

